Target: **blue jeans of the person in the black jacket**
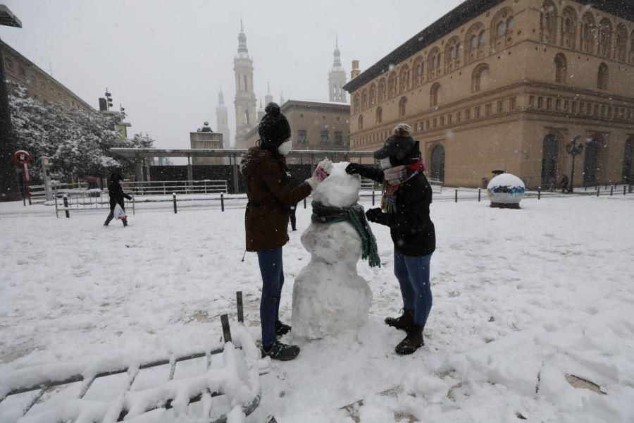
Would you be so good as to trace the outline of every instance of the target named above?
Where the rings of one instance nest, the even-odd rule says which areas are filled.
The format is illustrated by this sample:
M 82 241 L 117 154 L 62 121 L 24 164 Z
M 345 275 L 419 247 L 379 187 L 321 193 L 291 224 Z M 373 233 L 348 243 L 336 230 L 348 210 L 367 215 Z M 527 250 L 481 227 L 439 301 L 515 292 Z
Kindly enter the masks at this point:
M 429 281 L 432 255 L 410 257 L 394 249 L 394 276 L 401 285 L 403 308 L 414 311 L 414 323 L 425 326 L 432 306 Z

